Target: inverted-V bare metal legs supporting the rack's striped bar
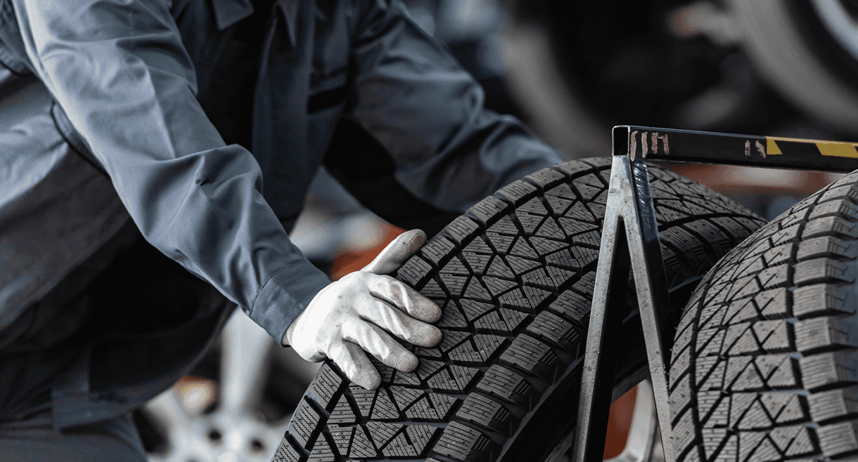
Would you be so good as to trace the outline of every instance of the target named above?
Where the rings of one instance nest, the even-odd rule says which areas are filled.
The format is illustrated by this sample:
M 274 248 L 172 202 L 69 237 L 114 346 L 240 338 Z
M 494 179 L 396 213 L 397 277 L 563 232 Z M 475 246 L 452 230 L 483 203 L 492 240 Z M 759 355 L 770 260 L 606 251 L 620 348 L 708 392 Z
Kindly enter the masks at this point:
M 621 140 L 614 142 L 617 141 Z M 613 389 L 615 341 L 611 336 L 625 305 L 625 288 L 630 273 L 634 277 L 644 327 L 664 455 L 670 462 L 675 460 L 667 367 L 675 327 L 669 309 L 648 171 L 641 159 L 633 158 L 633 152 L 631 156 L 617 153 L 613 156 L 576 430 L 572 434 L 575 435 L 572 460 L 576 462 L 601 460 Z

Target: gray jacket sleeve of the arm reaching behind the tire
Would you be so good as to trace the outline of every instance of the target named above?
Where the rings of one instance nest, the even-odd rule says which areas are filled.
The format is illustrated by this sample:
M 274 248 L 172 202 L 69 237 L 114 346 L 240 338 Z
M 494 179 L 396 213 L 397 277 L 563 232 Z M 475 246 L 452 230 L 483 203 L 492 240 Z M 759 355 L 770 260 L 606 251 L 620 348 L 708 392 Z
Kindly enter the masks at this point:
M 349 116 L 396 165 L 393 177 L 436 209 L 464 212 L 505 184 L 562 161 L 414 24 L 398 0 L 358 0 Z

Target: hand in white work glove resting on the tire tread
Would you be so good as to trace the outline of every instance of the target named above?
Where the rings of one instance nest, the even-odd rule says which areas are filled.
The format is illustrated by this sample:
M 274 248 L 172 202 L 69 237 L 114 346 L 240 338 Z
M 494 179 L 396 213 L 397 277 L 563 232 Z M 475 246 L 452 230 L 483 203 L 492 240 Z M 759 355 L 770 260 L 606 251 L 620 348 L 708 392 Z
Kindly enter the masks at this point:
M 406 231 L 359 272 L 322 289 L 287 328 L 282 343 L 308 361 L 329 357 L 349 380 L 367 389 L 378 387 L 381 375 L 364 350 L 390 367 L 416 369 L 417 357 L 388 332 L 414 345 L 434 346 L 441 331 L 426 322 L 438 321 L 441 309 L 384 274 L 396 271 L 424 242 L 423 231 Z

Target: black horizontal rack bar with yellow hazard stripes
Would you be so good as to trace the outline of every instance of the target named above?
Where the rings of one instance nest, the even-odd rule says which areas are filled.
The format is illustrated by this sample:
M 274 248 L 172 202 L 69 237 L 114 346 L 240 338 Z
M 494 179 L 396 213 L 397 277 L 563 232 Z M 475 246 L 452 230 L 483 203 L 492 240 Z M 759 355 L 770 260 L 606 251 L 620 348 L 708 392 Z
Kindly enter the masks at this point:
M 628 155 L 632 160 L 642 157 L 819 171 L 858 170 L 858 143 L 633 125 L 613 128 L 613 154 Z

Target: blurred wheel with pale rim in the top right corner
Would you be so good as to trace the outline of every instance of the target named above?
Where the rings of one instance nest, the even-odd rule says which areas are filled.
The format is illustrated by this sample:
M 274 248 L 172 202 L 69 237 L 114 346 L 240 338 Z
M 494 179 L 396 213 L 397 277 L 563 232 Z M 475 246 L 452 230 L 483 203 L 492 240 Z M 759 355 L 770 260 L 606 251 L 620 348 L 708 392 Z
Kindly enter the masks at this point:
M 760 75 L 826 128 L 858 134 L 854 2 L 728 0 L 727 4 L 739 42 Z

